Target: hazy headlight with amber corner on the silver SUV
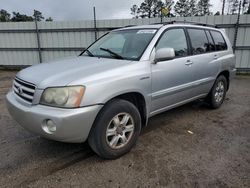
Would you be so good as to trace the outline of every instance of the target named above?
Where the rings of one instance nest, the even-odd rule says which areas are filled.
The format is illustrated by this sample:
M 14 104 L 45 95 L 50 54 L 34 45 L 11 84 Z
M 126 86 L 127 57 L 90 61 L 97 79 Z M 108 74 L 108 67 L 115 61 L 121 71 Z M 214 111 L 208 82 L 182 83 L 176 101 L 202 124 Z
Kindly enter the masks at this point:
M 83 86 L 47 88 L 42 94 L 40 104 L 64 108 L 80 107 L 84 92 Z

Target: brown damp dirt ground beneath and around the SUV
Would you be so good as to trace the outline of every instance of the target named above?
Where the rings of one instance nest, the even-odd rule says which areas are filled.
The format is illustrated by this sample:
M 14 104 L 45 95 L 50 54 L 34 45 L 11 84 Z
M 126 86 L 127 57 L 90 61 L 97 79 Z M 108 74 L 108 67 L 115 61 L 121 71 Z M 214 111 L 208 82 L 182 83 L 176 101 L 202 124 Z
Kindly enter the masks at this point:
M 220 109 L 197 101 L 153 117 L 129 154 L 102 160 L 21 128 L 5 106 L 14 75 L 0 71 L 0 187 L 250 187 L 250 77 Z

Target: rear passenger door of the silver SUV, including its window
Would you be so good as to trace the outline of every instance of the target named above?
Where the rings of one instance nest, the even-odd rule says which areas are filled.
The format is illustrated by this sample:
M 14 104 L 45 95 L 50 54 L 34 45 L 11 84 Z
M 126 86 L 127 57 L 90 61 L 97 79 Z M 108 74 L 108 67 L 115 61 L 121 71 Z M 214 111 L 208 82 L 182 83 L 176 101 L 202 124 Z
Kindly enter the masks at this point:
M 191 61 L 194 69 L 193 94 L 195 96 L 210 91 L 219 70 L 218 54 L 208 30 L 187 28 L 191 45 Z

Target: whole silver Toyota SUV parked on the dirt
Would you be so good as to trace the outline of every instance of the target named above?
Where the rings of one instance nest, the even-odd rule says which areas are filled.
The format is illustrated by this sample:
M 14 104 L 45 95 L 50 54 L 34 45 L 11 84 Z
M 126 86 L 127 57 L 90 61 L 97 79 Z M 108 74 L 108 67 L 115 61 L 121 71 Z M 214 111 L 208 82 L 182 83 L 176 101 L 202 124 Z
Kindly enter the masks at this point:
M 114 30 L 76 58 L 20 71 L 10 114 L 48 139 L 84 142 L 114 159 L 136 143 L 148 118 L 196 99 L 219 108 L 235 75 L 224 31 L 191 23 Z

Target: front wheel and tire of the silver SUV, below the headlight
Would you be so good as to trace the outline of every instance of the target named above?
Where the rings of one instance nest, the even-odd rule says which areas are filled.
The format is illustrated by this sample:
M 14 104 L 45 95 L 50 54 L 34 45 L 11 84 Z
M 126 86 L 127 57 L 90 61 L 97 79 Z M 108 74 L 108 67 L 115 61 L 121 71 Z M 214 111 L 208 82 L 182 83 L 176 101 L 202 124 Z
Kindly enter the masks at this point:
M 126 100 L 114 99 L 98 114 L 88 142 L 100 157 L 116 159 L 131 150 L 140 132 L 141 117 L 138 109 Z

